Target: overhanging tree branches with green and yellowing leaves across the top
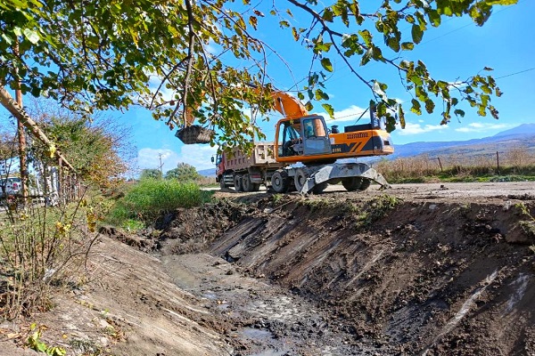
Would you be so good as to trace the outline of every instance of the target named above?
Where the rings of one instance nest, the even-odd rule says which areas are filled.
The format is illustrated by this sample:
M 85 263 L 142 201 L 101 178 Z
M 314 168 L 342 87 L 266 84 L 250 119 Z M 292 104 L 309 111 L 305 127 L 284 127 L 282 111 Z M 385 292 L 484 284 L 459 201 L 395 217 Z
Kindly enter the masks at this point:
M 397 121 L 405 125 L 405 110 L 388 96 L 385 83 L 360 74 L 359 66 L 370 61 L 399 72 L 413 95 L 410 110 L 418 115 L 443 108 L 441 124 L 446 124 L 452 114 L 464 116 L 459 103 L 466 101 L 479 115 L 498 118 L 490 100 L 501 92 L 492 77 L 478 73 L 449 83 L 432 77 L 423 61 L 399 60 L 399 53 L 413 50 L 428 27 L 440 26 L 444 18 L 469 16 L 481 26 L 494 6 L 516 2 L 383 0 L 379 9 L 366 12 L 366 3 L 357 0 L 328 5 L 287 0 L 287 6 L 273 4 L 265 13 L 249 0 L 152 0 L 136 6 L 119 0 L 6 0 L 0 4 L 0 89 L 46 95 L 84 115 L 140 104 L 170 128 L 185 125 L 187 108 L 199 124 L 220 129 L 212 143 L 251 147 L 252 137 L 264 136 L 255 118 L 243 115 L 243 101 L 260 115 L 274 105 L 267 57 L 275 51 L 255 36 L 270 16 L 311 52 L 309 74 L 298 93 L 308 109 L 313 101 L 325 101 L 322 106 L 333 115 L 325 78 L 336 57 L 369 88 L 370 104 L 386 117 L 390 131 Z M 293 12 L 308 16 L 309 26 L 293 26 Z M 403 41 L 400 28 L 407 26 L 411 39 Z M 159 83 L 151 91 L 154 80 Z M 172 97 L 166 98 L 163 89 Z M 12 106 L 5 98 L 2 102 Z

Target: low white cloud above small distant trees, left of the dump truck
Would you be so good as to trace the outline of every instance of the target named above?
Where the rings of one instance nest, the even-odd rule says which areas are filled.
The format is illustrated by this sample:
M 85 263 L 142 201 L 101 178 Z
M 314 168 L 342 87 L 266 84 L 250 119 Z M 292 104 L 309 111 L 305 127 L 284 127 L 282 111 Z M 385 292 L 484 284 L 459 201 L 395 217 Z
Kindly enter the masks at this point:
M 177 152 L 169 149 L 144 148 L 137 152 L 137 166 L 139 168 L 156 169 L 162 166 L 163 172 L 176 168 L 178 163 L 187 163 L 197 170 L 214 168 L 211 157 L 218 148 L 206 144 L 183 145 Z

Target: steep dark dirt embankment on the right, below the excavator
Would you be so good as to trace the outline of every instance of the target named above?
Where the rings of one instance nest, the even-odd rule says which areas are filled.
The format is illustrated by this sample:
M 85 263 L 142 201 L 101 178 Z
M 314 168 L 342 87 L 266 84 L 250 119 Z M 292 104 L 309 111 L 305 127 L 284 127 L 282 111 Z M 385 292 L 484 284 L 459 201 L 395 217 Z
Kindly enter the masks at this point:
M 241 220 L 222 236 L 203 236 L 204 251 L 311 301 L 339 336 L 317 336 L 332 354 L 535 354 L 530 197 L 255 197 L 242 198 Z M 179 220 L 162 235 L 162 251 L 198 239 L 186 238 Z M 230 319 L 243 327 L 240 316 Z M 300 322 L 257 329 L 289 340 L 317 331 L 318 320 Z M 313 354 L 301 346 L 293 352 Z

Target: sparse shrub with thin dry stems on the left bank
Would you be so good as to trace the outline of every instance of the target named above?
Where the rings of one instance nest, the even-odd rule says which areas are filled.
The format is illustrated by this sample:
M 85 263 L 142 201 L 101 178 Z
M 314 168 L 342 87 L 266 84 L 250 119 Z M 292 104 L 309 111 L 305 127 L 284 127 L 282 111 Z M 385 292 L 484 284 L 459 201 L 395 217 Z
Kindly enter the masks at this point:
M 0 221 L 0 274 L 5 276 L 0 308 L 4 318 L 44 311 L 50 307 L 54 285 L 78 284 L 78 268 L 95 239 L 87 220 L 101 220 L 105 210 L 106 206 L 93 198 L 69 206 L 7 207 Z

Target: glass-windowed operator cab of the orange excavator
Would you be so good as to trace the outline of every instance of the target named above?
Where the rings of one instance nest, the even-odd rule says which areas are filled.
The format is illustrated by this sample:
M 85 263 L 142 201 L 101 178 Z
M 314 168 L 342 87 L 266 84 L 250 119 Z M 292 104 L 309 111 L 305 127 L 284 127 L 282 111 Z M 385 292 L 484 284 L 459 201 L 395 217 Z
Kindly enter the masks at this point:
M 323 117 L 286 118 L 276 125 L 276 160 L 295 163 L 330 155 L 331 142 Z

